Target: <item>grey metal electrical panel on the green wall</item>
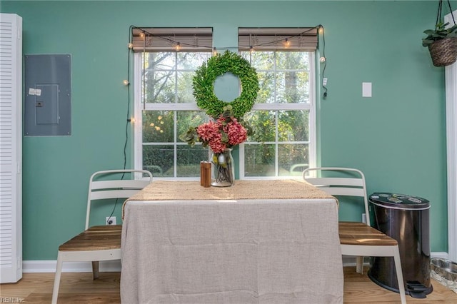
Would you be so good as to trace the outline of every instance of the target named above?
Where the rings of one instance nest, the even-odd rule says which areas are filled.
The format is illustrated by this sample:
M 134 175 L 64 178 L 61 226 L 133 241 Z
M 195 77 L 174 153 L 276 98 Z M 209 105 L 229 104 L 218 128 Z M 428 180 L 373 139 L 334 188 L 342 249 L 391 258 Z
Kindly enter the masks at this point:
M 24 135 L 71 135 L 71 56 L 25 55 Z

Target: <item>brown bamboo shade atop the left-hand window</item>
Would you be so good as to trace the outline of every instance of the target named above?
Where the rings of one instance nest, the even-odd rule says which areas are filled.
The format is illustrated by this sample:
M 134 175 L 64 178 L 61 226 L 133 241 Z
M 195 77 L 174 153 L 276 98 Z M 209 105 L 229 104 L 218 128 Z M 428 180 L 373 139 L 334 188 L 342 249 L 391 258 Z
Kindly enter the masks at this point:
M 151 28 L 134 27 L 132 30 L 134 52 L 212 51 L 213 28 Z

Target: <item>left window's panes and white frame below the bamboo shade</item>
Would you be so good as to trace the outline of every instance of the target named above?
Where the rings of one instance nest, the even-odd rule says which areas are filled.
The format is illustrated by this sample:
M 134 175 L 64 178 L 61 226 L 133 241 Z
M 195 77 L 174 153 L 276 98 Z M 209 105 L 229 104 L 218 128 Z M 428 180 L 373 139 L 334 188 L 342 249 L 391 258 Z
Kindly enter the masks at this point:
M 136 104 L 136 112 L 141 115 L 138 167 L 151 171 L 155 177 L 199 176 L 200 161 L 208 159 L 208 151 L 201 145 L 189 146 L 179 136 L 189 126 L 198 126 L 208 119 L 196 107 L 192 76 L 211 52 L 149 52 L 144 56 L 144 86 L 142 98 Z M 140 57 L 137 56 L 138 63 L 143 60 Z

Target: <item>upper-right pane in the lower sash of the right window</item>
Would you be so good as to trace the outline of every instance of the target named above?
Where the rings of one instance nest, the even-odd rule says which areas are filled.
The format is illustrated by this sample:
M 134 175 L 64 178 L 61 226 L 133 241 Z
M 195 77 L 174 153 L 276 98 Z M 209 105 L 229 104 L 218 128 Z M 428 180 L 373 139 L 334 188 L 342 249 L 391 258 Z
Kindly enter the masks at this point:
M 309 141 L 309 111 L 279 111 L 278 141 Z

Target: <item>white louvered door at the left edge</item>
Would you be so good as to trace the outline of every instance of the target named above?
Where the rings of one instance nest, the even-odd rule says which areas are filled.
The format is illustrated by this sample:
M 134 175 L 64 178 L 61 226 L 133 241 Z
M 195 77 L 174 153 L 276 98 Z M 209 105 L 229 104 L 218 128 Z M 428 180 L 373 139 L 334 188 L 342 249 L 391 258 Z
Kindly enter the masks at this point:
M 0 14 L 0 283 L 22 278 L 22 19 Z

